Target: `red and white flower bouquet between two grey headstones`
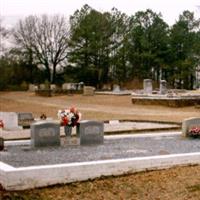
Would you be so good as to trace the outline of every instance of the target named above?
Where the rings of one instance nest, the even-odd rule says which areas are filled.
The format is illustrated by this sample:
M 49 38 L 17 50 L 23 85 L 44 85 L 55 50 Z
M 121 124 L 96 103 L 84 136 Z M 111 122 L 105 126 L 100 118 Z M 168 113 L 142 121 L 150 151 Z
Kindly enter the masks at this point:
M 74 127 L 80 122 L 81 113 L 75 107 L 71 107 L 69 110 L 58 110 L 58 119 L 61 126 Z

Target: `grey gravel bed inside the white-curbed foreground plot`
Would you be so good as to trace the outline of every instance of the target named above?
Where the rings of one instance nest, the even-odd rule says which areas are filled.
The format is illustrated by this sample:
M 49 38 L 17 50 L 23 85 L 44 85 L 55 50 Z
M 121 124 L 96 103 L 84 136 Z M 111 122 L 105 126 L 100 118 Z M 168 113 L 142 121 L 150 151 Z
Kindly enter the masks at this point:
M 22 167 L 199 151 L 199 139 L 183 138 L 180 134 L 152 137 L 106 136 L 104 144 L 97 146 L 67 145 L 64 141 L 60 147 L 35 149 L 28 145 L 8 145 L 6 151 L 0 152 L 0 161 Z

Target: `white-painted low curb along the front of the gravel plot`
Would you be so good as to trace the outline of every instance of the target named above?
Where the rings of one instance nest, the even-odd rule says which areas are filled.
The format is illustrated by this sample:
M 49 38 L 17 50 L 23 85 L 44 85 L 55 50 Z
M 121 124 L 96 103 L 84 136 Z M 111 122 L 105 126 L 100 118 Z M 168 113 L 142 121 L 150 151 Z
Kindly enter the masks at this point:
M 6 190 L 25 190 L 194 164 L 200 164 L 200 152 L 20 168 L 0 162 L 0 184 Z

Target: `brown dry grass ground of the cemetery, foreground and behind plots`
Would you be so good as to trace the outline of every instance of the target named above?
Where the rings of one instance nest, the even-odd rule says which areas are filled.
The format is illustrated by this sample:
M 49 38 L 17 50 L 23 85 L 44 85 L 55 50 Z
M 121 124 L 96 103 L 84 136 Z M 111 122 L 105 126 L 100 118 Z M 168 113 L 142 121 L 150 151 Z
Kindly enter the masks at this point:
M 0 110 L 42 113 L 57 119 L 58 109 L 76 106 L 83 119 L 156 120 L 182 122 L 199 117 L 198 107 L 169 108 L 154 105 L 133 105 L 130 96 L 63 95 L 51 98 L 28 92 L 1 92 Z M 119 177 L 102 177 L 81 183 L 58 185 L 21 192 L 0 190 L 2 199 L 173 199 L 198 200 L 200 166 L 174 167 L 167 170 L 140 172 Z M 1 199 L 1 198 L 0 198 Z

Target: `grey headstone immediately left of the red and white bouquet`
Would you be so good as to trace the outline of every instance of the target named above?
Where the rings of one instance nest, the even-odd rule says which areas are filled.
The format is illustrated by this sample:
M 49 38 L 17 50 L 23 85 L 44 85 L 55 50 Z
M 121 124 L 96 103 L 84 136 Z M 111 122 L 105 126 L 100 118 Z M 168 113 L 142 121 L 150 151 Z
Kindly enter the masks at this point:
M 31 124 L 31 146 L 60 146 L 60 124 L 50 121 Z

